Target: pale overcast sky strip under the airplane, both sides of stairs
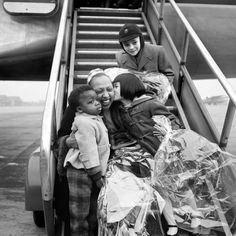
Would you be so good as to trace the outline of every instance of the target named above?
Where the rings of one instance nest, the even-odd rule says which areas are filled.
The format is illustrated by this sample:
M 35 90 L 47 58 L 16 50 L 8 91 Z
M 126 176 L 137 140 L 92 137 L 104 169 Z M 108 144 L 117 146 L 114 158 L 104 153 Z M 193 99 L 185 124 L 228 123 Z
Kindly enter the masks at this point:
M 236 79 L 228 79 L 236 94 Z M 202 98 L 225 94 L 216 80 L 194 81 Z M 23 101 L 39 101 L 46 97 L 48 82 L 0 81 L 0 94 L 19 96 Z

